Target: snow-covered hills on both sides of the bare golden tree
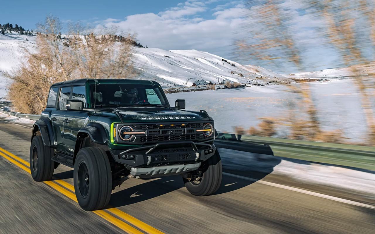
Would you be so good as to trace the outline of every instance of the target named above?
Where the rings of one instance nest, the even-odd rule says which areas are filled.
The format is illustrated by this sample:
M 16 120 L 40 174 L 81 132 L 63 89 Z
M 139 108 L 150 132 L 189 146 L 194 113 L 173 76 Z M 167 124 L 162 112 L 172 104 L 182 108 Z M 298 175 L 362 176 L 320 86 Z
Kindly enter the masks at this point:
M 24 49 L 36 51 L 36 36 L 17 33 L 0 34 L 0 97 L 6 95 L 4 79 L 25 58 Z M 257 66 L 243 66 L 208 52 L 196 50 L 171 50 L 135 48 L 134 63 L 140 79 L 156 80 L 165 88 L 238 83 L 268 83 L 285 80 L 282 75 Z M 4 81 L 5 80 L 5 81 Z

